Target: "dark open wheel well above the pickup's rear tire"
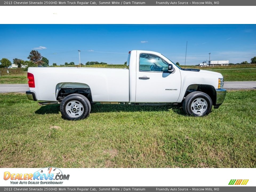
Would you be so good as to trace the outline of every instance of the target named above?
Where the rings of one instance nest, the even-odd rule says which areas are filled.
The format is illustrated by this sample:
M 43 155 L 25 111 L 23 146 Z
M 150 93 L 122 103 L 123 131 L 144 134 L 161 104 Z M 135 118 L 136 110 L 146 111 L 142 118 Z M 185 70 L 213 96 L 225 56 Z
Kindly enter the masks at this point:
M 84 95 L 91 103 L 93 102 L 90 88 L 61 88 L 58 92 L 57 100 L 61 102 L 65 97 L 74 93 Z

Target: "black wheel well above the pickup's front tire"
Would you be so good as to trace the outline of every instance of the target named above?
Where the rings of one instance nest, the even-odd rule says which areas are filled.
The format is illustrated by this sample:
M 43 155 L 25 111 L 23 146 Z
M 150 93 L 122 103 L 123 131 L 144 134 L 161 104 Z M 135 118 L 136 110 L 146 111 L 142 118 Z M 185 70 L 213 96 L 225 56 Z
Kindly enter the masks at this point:
M 194 84 L 187 87 L 184 98 L 191 92 L 201 91 L 210 96 L 213 105 L 216 105 L 216 92 L 212 85 Z

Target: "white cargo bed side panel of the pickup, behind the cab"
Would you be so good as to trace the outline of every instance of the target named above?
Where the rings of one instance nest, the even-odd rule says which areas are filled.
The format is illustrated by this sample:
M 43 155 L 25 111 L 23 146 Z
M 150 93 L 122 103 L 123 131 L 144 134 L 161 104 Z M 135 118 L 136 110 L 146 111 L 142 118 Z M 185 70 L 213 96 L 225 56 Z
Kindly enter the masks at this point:
M 38 101 L 57 101 L 65 87 L 90 88 L 93 102 L 129 102 L 129 70 L 89 67 L 29 67 Z

